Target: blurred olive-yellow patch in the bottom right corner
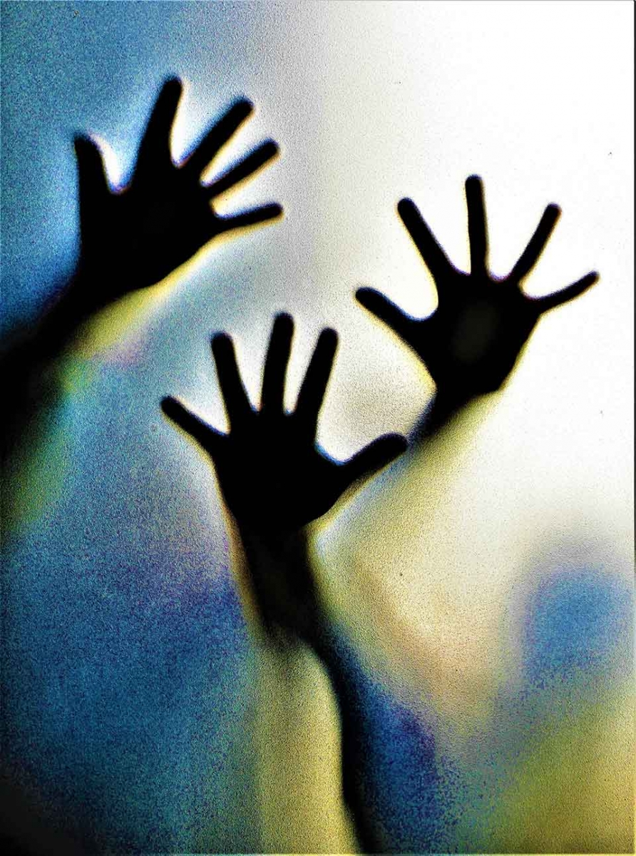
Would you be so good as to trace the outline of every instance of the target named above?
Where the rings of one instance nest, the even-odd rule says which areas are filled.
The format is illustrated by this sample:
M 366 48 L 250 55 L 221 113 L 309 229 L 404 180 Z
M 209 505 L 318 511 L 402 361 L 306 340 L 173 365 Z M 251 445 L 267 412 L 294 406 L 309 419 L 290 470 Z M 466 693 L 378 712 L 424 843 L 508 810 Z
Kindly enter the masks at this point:
M 511 853 L 633 853 L 632 695 L 544 724 L 490 817 L 493 841 Z

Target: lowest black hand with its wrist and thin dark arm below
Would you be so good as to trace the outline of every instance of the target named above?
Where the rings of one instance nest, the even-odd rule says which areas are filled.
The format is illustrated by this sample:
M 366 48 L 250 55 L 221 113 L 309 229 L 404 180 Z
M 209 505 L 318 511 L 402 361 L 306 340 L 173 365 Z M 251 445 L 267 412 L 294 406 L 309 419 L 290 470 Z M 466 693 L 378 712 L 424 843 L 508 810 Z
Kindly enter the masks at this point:
M 265 360 L 259 410 L 250 404 L 236 366 L 229 336 L 212 340 L 219 386 L 229 417 L 223 434 L 174 398 L 162 401 L 163 413 L 199 443 L 217 479 L 239 532 L 259 613 L 276 645 L 306 643 L 330 675 L 342 725 L 343 796 L 354 814 L 363 846 L 375 838 L 356 784 L 356 735 L 359 705 L 348 686 L 329 622 L 312 576 L 306 526 L 327 512 L 353 484 L 369 478 L 406 449 L 398 435 L 385 435 L 339 463 L 316 445 L 318 414 L 336 354 L 334 330 L 323 330 L 301 385 L 296 407 L 283 406 L 293 321 L 279 315 Z

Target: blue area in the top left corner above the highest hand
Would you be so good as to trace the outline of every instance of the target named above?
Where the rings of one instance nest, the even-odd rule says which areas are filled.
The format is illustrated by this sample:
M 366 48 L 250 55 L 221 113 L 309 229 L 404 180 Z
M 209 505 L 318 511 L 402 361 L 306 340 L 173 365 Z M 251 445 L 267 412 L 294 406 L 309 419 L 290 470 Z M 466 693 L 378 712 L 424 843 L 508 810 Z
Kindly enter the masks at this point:
M 258 95 L 241 42 L 259 11 L 241 5 L 2 4 L 3 333 L 73 269 L 75 134 L 105 140 L 125 181 L 169 74 L 203 81 L 216 110 L 242 92 Z M 211 118 L 200 116 L 199 127 Z

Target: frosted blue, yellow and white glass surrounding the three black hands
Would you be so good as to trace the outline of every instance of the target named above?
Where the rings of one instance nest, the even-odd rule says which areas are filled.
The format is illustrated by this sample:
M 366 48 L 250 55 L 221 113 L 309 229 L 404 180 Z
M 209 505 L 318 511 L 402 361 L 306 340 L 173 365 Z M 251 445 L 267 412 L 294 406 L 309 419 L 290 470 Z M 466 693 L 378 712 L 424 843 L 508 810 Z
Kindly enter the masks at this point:
M 211 333 L 235 337 L 258 402 L 284 309 L 289 406 L 319 330 L 341 335 L 319 432 L 331 455 L 410 431 L 431 379 L 354 290 L 431 312 L 395 205 L 412 197 L 466 270 L 463 182 L 476 173 L 497 274 L 555 201 L 562 219 L 528 292 L 588 270 L 600 281 L 541 321 L 502 393 L 337 509 L 317 568 L 369 693 L 378 817 L 396 849 L 628 848 L 631 4 L 3 3 L 2 28 L 3 330 L 73 269 L 73 134 L 104 142 L 122 186 L 169 74 L 187 82 L 175 158 L 245 94 L 256 115 L 218 167 L 267 137 L 281 157 L 223 212 L 285 209 L 207 247 L 126 326 L 104 314 L 74 354 L 72 395 L 17 485 L 21 526 L 5 547 L 10 757 L 113 847 L 301 849 L 282 817 L 315 827 L 307 850 L 350 846 L 315 663 L 294 692 L 303 728 L 335 754 L 299 776 L 322 770 L 316 805 L 333 836 L 307 807 L 311 788 L 272 807 L 293 705 L 279 696 L 264 712 L 284 675 L 241 609 L 211 467 L 158 402 L 179 395 L 223 429 Z M 413 761 L 405 710 L 435 746 L 435 775 Z

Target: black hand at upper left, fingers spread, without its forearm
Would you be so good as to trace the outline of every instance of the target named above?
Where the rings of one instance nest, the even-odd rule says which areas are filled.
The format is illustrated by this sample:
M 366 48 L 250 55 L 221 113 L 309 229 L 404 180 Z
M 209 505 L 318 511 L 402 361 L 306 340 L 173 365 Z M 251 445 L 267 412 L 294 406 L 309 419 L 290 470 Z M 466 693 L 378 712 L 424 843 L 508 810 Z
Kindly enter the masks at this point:
M 217 235 L 264 223 L 282 213 L 275 204 L 233 217 L 215 213 L 211 201 L 253 175 L 276 156 L 278 147 L 266 140 L 211 184 L 202 184 L 202 172 L 246 121 L 253 104 L 236 101 L 183 163 L 176 164 L 170 155 L 170 132 L 181 91 L 180 80 L 163 84 L 141 140 L 132 180 L 121 191 L 110 189 L 98 146 L 87 137 L 75 139 L 80 274 L 90 280 L 97 306 L 159 282 Z

